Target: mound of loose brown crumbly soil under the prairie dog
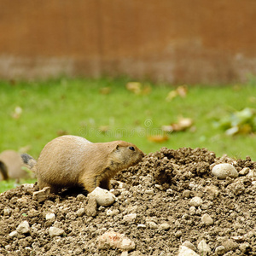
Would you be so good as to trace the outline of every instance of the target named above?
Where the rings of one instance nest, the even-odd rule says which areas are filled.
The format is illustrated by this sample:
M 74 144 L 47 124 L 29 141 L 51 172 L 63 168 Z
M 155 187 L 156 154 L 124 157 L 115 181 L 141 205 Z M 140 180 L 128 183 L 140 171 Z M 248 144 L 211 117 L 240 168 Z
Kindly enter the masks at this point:
M 212 166 L 226 162 L 236 167 L 239 177 L 212 177 Z M 37 184 L 4 192 L 0 255 L 120 255 L 119 248 L 98 247 L 97 237 L 107 231 L 134 241 L 136 247 L 128 253 L 133 256 L 177 255 L 184 241 L 200 253 L 202 240 L 210 247 L 209 255 L 256 255 L 256 162 L 249 157 L 234 160 L 218 158 L 205 148 L 161 148 L 114 180 L 117 201 L 97 207 L 96 216 L 84 214 L 89 200 L 80 189 L 49 194 L 42 202 L 32 199 Z M 193 206 L 195 196 L 201 202 Z M 54 220 L 46 220 L 50 212 Z M 124 218 L 130 213 L 136 213 L 134 218 Z M 25 220 L 29 229 L 15 233 Z M 62 232 L 50 236 L 51 227 Z

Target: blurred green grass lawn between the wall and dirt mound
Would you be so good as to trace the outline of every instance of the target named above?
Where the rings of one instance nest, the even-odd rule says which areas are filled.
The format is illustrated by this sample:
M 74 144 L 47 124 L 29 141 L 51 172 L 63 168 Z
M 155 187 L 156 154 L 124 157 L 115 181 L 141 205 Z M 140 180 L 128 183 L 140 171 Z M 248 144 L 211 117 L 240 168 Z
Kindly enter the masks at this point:
M 135 95 L 125 89 L 129 79 L 59 79 L 47 82 L 0 82 L 0 152 L 5 149 L 27 153 L 35 158 L 62 131 L 86 137 L 91 142 L 126 140 L 143 149 L 155 152 L 161 147 L 201 147 L 218 156 L 256 160 L 255 137 L 228 137 L 213 121 L 233 110 L 255 108 L 256 86 L 189 87 L 185 98 L 166 102 L 174 87 L 150 84 L 148 95 Z M 148 83 L 149 84 L 149 83 Z M 100 93 L 109 87 L 110 93 Z M 15 119 L 15 108 L 22 108 Z M 162 125 L 170 125 L 179 116 L 192 118 L 195 131 L 172 133 L 164 143 L 153 143 L 148 137 L 163 134 Z M 108 125 L 109 131 L 102 132 Z M 0 183 L 0 187 L 3 183 Z

